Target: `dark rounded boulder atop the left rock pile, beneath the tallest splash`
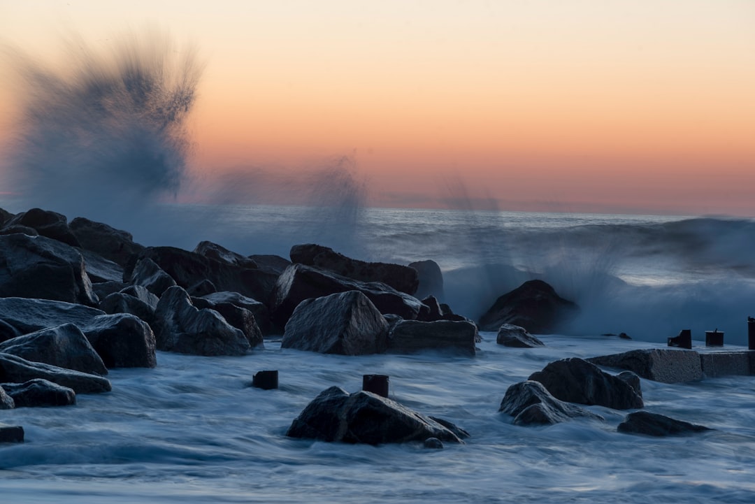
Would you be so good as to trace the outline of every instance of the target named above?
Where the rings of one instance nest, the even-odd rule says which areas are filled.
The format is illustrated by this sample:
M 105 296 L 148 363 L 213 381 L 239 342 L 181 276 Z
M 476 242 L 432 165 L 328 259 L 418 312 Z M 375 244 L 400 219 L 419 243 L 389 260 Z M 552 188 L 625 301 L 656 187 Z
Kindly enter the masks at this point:
M 140 254 L 144 249 L 134 242 L 131 233 L 84 217 L 76 217 L 69 227 L 83 249 L 91 250 L 122 267 L 126 266 L 132 255 Z

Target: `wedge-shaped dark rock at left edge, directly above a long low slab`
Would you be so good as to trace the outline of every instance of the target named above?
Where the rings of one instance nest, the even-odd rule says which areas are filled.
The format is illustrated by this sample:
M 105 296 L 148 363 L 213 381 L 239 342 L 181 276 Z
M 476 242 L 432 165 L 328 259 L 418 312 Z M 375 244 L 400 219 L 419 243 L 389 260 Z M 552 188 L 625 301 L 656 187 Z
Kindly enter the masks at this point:
M 48 327 L 0 343 L 0 352 L 82 373 L 106 375 L 107 368 L 74 324 Z

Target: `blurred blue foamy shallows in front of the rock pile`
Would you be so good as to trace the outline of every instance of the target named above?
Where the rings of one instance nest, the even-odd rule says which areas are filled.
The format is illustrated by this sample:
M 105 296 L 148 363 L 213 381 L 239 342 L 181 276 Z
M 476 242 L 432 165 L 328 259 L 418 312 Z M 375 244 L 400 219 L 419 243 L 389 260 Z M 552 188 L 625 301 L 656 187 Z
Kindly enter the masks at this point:
M 3 502 L 753 502 L 755 377 L 642 381 L 646 410 L 716 429 L 685 438 L 616 432 L 627 412 L 513 426 L 504 392 L 549 361 L 654 345 L 542 337 L 510 349 L 482 333 L 475 358 L 344 357 L 266 349 L 240 358 L 159 352 L 154 370 L 112 370 L 112 392 L 75 407 L 18 408 L 26 443 L 0 447 Z M 700 345 L 700 342 L 695 342 Z M 278 390 L 248 388 L 277 369 Z M 319 392 L 390 375 L 390 397 L 467 429 L 464 445 L 362 446 L 285 437 Z

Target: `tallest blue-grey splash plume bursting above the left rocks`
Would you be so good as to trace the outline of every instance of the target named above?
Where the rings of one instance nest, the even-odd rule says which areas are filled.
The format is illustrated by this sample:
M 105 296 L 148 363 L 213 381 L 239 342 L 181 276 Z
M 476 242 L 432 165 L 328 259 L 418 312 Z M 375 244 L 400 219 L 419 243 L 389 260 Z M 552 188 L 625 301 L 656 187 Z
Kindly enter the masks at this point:
M 11 49 L 20 115 L 6 179 L 21 209 L 44 207 L 130 226 L 186 174 L 186 118 L 202 74 L 194 48 L 147 30 L 110 51 L 77 36 L 53 67 Z

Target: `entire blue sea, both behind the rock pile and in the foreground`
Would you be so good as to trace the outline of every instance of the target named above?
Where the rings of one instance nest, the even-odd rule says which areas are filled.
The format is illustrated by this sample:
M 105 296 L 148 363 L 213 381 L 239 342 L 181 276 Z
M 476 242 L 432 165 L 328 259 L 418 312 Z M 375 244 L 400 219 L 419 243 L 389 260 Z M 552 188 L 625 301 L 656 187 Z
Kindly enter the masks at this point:
M 9 208 L 11 211 L 23 209 Z M 51 208 L 54 210 L 54 208 Z M 435 260 L 444 300 L 476 318 L 529 278 L 578 303 L 546 346 L 511 349 L 482 333 L 474 358 L 344 357 L 281 349 L 244 357 L 158 352 L 156 369 L 116 369 L 112 392 L 74 407 L 18 408 L 23 444 L 0 445 L 2 502 L 753 502 L 755 376 L 642 380 L 646 410 L 714 430 L 683 438 L 616 432 L 606 422 L 513 426 L 506 389 L 548 362 L 661 348 L 691 329 L 744 349 L 755 315 L 755 222 L 723 217 L 527 214 L 329 207 L 168 205 L 152 219 L 106 221 L 143 244 L 216 241 L 286 256 L 314 241 L 364 260 Z M 75 217 L 75 216 L 69 216 Z M 91 216 L 87 216 L 91 217 Z M 91 217 L 94 218 L 94 217 Z M 127 222 L 126 219 L 131 219 Z M 104 220 L 104 219 L 103 219 Z M 633 340 L 602 336 L 625 332 Z M 249 388 L 258 370 L 280 388 Z M 467 429 L 467 444 L 360 446 L 285 437 L 322 390 L 390 376 L 390 397 Z

